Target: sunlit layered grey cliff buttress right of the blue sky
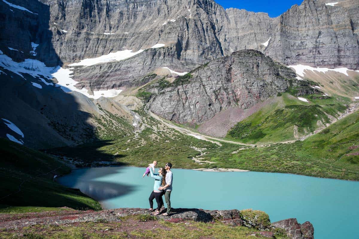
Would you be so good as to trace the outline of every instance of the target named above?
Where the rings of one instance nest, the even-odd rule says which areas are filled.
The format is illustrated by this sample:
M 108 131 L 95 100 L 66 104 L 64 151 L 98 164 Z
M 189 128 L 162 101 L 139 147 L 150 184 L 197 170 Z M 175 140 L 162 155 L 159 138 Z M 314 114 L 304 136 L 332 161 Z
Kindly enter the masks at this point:
M 289 65 L 358 69 L 359 2 L 304 0 L 275 19 L 265 53 Z

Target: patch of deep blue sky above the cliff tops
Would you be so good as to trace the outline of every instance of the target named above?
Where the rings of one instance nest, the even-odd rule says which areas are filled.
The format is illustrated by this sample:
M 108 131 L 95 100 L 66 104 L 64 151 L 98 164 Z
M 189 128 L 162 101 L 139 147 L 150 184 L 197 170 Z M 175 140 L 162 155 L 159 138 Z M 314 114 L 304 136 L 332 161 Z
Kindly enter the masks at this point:
M 247 11 L 268 13 L 271 18 L 284 13 L 294 4 L 300 5 L 303 0 L 214 0 L 226 8 L 246 9 Z

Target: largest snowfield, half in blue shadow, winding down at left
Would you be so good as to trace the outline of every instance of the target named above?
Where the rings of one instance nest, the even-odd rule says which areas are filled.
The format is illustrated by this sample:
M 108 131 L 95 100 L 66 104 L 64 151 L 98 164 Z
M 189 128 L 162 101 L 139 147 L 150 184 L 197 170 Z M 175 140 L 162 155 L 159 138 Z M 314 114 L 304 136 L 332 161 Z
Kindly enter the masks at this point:
M 98 99 L 99 97 L 114 97 L 120 94 L 122 90 L 99 90 L 99 91 L 93 91 L 94 95 L 88 94 L 88 89 L 77 89 L 75 85 L 78 83 L 77 81 L 73 80 L 71 78 L 71 74 L 73 71 L 71 71 L 71 68 L 64 69 L 60 66 L 56 67 L 47 67 L 45 63 L 34 60 L 34 59 L 25 59 L 23 62 L 15 62 L 10 57 L 3 54 L 3 52 L 0 51 L 0 66 L 3 67 L 6 70 L 9 70 L 22 78 L 25 79 L 23 76 L 24 73 L 27 73 L 33 77 L 38 78 L 39 82 L 43 82 L 46 85 L 53 85 L 53 83 L 46 82 L 44 78 L 47 78 L 47 80 L 51 80 L 52 78 L 56 78 L 58 83 L 56 84 L 57 87 L 61 87 L 61 89 L 64 92 L 70 92 L 70 91 L 77 91 L 81 94 L 84 94 L 85 96 L 89 98 Z M 42 85 L 36 82 L 31 82 L 34 87 L 37 87 L 39 89 L 43 89 Z M 41 88 L 40 88 L 40 87 Z

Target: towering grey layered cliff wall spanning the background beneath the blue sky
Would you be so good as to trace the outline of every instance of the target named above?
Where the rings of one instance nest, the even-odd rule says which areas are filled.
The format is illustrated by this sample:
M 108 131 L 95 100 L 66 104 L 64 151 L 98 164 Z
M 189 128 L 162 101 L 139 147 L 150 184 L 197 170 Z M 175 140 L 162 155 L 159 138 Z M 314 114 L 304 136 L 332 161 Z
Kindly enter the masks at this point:
M 11 6 L 0 2 L 1 50 L 18 61 L 34 58 L 54 66 L 165 44 L 165 49 L 144 51 L 130 61 L 77 70 L 74 79 L 79 88 L 118 89 L 154 68 L 190 71 L 241 49 L 256 49 L 285 64 L 359 69 L 355 0 L 334 6 L 305 0 L 277 18 L 224 10 L 213 0 L 13 0 L 11 4 L 32 12 L 10 11 Z M 36 56 L 29 54 L 31 42 L 39 44 Z

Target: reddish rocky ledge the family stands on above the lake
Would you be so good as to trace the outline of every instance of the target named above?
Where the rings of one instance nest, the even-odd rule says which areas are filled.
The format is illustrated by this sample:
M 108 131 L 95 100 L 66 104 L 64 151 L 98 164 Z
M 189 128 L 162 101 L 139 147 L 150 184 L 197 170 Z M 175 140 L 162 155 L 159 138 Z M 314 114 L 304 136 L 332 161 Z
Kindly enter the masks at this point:
M 68 209 L 68 208 L 64 208 Z M 274 238 L 275 231 L 284 231 L 292 239 L 313 239 L 313 225 L 307 221 L 299 224 L 297 219 L 290 218 L 275 223 L 269 222 L 269 216 L 262 211 L 248 210 L 202 210 L 174 209 L 170 216 L 152 216 L 148 209 L 119 208 L 102 211 L 62 210 L 52 212 L 28 212 L 22 214 L 0 214 L 0 230 L 11 231 L 33 225 L 71 226 L 86 222 L 121 222 L 126 216 L 142 216 L 147 218 L 164 219 L 171 223 L 186 223 L 188 221 L 215 223 L 220 221 L 229 226 L 245 226 L 257 231 L 253 236 Z M 187 223 L 186 223 L 187 224 Z

